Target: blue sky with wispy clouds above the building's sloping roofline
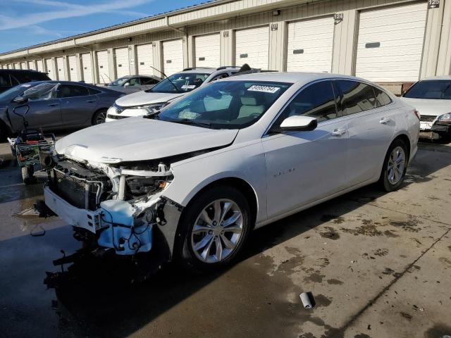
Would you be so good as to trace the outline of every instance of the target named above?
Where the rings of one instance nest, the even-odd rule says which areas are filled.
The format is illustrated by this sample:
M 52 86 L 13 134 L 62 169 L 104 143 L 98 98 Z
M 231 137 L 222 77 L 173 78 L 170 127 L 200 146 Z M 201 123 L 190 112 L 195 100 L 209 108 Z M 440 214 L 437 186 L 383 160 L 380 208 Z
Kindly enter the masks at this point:
M 0 53 L 205 0 L 0 0 Z

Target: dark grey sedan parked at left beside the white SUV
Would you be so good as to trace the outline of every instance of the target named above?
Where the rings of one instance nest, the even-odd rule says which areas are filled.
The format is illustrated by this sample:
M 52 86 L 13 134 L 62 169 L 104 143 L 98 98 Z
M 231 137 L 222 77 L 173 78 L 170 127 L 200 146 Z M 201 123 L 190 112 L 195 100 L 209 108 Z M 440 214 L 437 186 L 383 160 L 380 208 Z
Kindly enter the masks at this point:
M 80 82 L 20 84 L 0 94 L 0 137 L 22 130 L 22 116 L 30 128 L 43 130 L 103 123 L 106 110 L 121 95 L 121 92 Z

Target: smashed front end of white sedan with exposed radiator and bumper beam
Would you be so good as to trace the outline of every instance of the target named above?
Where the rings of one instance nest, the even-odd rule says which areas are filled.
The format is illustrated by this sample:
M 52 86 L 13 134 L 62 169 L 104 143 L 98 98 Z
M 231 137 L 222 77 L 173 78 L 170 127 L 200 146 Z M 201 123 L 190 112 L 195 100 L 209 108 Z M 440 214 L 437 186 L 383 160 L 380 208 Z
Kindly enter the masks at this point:
M 172 160 L 101 163 L 47 154 L 45 203 L 82 242 L 130 256 L 157 241 L 169 261 L 183 210 L 163 196 Z

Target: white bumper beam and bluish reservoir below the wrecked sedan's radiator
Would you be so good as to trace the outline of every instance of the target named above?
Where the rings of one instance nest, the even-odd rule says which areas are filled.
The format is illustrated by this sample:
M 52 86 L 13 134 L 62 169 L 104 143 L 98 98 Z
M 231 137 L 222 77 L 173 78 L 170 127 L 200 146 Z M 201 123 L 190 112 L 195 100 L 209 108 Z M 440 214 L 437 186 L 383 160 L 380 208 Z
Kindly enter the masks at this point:
M 133 255 L 155 249 L 161 261 L 170 261 L 183 206 L 159 196 L 152 201 L 155 220 L 135 218 L 125 201 L 104 201 L 96 211 L 77 208 L 44 185 L 45 204 L 64 222 L 92 232 L 101 247 L 112 248 L 118 255 Z M 154 248 L 155 246 L 155 248 Z

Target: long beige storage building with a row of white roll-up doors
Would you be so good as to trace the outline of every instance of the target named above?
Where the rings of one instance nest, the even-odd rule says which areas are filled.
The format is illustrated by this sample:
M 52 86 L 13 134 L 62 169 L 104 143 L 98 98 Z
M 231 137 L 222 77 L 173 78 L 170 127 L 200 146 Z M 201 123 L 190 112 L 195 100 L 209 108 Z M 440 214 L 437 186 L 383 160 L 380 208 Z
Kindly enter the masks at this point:
M 0 54 L 0 68 L 104 84 L 249 63 L 357 75 L 398 93 L 450 74 L 450 30 L 451 0 L 217 0 Z

